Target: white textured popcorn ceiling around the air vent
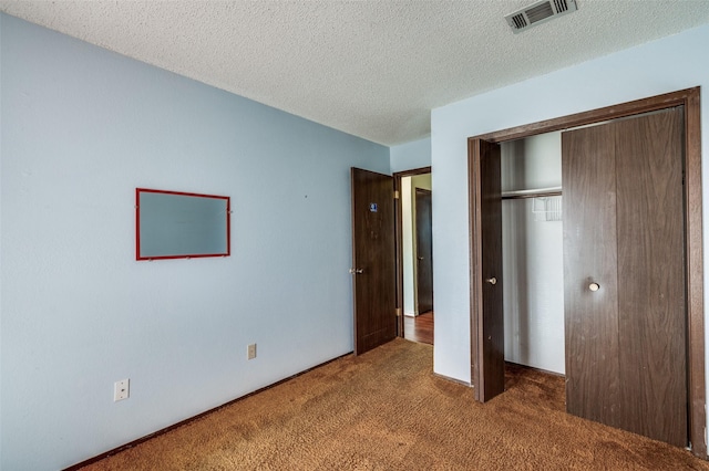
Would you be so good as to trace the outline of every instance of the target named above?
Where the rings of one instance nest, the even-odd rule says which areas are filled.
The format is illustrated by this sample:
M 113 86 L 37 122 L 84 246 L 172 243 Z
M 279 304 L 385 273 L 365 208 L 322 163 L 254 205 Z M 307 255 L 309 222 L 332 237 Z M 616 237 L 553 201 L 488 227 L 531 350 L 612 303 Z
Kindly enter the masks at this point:
M 513 34 L 504 15 L 533 2 L 0 0 L 0 10 L 384 145 L 428 136 L 434 107 L 709 22 L 709 0 L 577 0 L 578 11 Z

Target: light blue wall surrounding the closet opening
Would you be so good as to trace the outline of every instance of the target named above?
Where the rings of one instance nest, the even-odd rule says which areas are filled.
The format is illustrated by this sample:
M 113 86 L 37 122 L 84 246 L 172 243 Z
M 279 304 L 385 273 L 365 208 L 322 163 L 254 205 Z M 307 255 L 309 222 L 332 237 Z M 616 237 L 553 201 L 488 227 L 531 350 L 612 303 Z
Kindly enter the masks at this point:
M 700 85 L 702 156 L 706 156 L 709 148 L 707 44 L 709 25 L 433 109 L 436 373 L 470 381 L 467 137 Z M 708 177 L 709 165 L 705 161 L 705 221 L 709 221 Z M 708 233 L 705 230 L 705 253 L 709 253 Z M 709 280 L 707 263 L 705 280 Z M 705 290 L 705 294 L 709 296 L 709 290 Z M 707 326 L 709 328 L 709 324 Z

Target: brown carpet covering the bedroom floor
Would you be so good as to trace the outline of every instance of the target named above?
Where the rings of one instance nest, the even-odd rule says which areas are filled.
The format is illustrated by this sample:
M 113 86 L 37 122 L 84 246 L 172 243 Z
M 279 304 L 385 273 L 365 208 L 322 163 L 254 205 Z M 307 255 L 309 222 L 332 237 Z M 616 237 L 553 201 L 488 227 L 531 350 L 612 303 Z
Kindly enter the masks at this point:
M 397 339 L 84 470 L 709 470 L 688 451 L 564 411 L 564 380 L 508 368 L 480 405 Z

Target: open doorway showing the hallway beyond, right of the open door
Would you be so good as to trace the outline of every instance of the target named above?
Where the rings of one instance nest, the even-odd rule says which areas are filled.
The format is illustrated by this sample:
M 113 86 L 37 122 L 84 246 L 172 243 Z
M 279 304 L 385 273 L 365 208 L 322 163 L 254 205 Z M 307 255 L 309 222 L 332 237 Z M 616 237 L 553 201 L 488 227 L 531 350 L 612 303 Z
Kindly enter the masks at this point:
M 399 336 L 433 344 L 433 251 L 431 168 L 394 174 L 399 196 L 397 276 L 402 307 Z

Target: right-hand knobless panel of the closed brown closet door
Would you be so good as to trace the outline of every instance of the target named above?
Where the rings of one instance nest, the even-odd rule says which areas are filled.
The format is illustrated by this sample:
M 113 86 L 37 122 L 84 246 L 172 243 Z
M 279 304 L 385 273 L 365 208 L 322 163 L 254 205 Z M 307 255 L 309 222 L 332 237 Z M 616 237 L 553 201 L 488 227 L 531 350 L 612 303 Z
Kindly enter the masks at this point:
M 687 444 L 684 111 L 614 123 L 620 407 L 626 430 Z

